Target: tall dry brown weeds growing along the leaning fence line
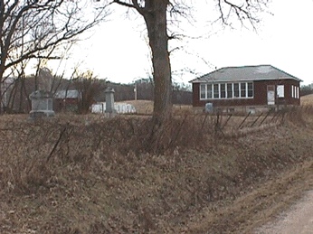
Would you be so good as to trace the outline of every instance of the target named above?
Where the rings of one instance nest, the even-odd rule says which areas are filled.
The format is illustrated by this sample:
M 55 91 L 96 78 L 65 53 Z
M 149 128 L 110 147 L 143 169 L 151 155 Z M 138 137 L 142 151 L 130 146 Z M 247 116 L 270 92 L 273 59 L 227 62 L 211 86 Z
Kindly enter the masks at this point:
M 302 123 L 309 108 L 289 109 L 281 114 L 282 120 Z M 235 117 L 234 117 L 235 118 Z M 10 162 L 0 172 L 7 177 L 2 183 L 19 184 L 19 192 L 32 193 L 41 186 L 48 186 L 55 170 L 51 166 L 83 164 L 97 157 L 101 160 L 135 155 L 170 155 L 186 151 L 202 151 L 212 147 L 216 140 L 233 140 L 251 134 L 238 135 L 237 126 L 242 117 L 223 125 L 226 118 L 213 115 L 180 115 L 158 126 L 148 117 L 93 118 L 57 117 L 50 121 L 16 122 L 10 119 L 0 133 L 3 164 Z M 269 117 L 272 121 L 273 117 Z M 247 126 L 251 126 L 251 120 Z M 274 127 L 274 126 L 271 126 Z M 245 133 L 242 135 L 242 133 Z M 132 159 L 135 160 L 135 159 Z M 5 186 L 5 188 L 13 188 Z

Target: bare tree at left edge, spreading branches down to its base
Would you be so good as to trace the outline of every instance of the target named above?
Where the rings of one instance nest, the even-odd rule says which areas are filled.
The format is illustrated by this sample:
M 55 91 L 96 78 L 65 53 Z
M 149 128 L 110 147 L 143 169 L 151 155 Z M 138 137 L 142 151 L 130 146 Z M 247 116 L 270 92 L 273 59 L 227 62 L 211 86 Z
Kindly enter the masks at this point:
M 30 61 L 68 57 L 64 48 L 71 48 L 81 33 L 104 22 L 110 14 L 108 3 L 87 2 L 0 1 L 0 114 L 2 110 L 24 112 L 29 108 L 27 92 L 33 84 L 38 90 L 36 79 L 33 84 L 25 79 L 24 69 Z M 9 89 L 9 97 L 5 89 Z

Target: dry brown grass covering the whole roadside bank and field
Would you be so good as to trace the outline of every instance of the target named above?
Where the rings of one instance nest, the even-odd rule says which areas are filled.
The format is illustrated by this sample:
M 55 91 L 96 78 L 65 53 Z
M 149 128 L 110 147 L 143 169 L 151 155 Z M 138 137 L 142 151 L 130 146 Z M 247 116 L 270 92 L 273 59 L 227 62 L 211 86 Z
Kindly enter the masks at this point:
M 0 233 L 250 233 L 313 184 L 306 111 L 182 115 L 154 140 L 148 117 L 1 116 Z

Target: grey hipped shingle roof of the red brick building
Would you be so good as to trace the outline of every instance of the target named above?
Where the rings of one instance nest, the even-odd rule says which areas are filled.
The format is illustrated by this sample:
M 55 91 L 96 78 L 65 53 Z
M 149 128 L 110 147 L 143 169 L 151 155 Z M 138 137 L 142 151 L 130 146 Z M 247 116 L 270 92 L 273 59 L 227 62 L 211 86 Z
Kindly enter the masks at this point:
M 252 80 L 299 80 L 289 73 L 279 70 L 271 65 L 244 66 L 244 67 L 226 67 L 214 70 L 204 76 L 191 80 L 191 83 L 202 82 L 235 82 Z

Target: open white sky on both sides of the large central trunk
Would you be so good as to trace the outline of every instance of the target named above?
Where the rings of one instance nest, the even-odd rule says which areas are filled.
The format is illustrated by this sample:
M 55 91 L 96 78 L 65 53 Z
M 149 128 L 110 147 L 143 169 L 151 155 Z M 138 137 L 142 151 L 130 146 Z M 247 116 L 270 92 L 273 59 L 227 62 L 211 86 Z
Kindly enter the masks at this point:
M 261 14 L 257 32 L 240 24 L 234 25 L 235 29 L 223 29 L 221 24 L 210 22 L 217 15 L 212 5 L 194 5 L 191 23 L 182 20 L 170 26 L 177 33 L 197 37 L 170 42 L 171 49 L 179 48 L 171 55 L 174 80 L 187 83 L 215 68 L 270 64 L 303 80 L 302 84 L 313 82 L 313 1 L 273 2 L 268 9 L 272 15 Z M 146 26 L 140 16 L 131 15 L 128 19 L 126 10 L 116 6 L 109 21 L 75 47 L 68 70 L 81 61 L 81 70 L 94 70 L 99 78 L 113 82 L 147 78 L 151 62 Z

